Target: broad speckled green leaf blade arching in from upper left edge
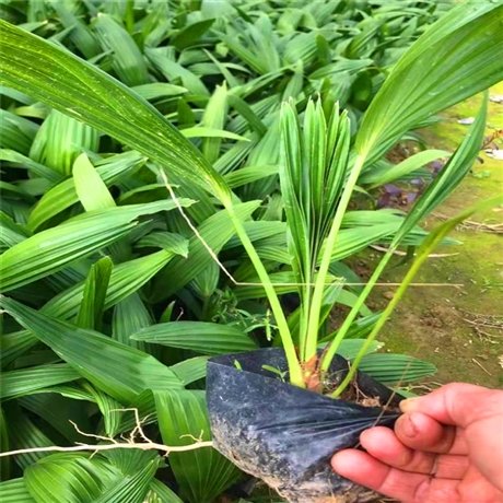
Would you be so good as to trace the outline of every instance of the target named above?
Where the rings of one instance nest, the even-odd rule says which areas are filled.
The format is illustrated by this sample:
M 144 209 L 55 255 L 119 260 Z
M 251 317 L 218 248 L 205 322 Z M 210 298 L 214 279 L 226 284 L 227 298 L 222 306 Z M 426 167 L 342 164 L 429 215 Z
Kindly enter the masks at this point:
M 229 188 L 196 148 L 132 91 L 70 52 L 4 21 L 0 33 L 2 83 L 124 141 L 167 169 L 230 200 Z

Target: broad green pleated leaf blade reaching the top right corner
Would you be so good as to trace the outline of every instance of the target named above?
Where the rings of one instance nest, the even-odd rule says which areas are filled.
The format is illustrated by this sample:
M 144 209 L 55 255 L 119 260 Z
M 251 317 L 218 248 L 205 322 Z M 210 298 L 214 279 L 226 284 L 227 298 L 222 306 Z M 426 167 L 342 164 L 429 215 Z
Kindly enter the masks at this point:
M 384 153 L 416 125 L 503 80 L 502 21 L 501 1 L 468 0 L 430 26 L 373 100 L 358 152 Z

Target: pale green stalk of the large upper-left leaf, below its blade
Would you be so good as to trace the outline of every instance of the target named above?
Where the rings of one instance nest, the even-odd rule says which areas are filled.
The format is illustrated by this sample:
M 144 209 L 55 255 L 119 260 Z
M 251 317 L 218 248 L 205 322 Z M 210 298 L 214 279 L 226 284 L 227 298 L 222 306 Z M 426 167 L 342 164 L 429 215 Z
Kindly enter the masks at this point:
M 225 209 L 229 212 L 234 229 L 236 230 L 236 234 L 238 235 L 246 253 L 248 254 L 248 257 L 252 260 L 252 264 L 254 265 L 255 270 L 257 271 L 257 274 L 262 283 L 264 290 L 266 291 L 267 299 L 269 301 L 272 314 L 274 315 L 276 324 L 281 336 L 284 353 L 286 355 L 286 361 L 290 370 L 290 382 L 295 386 L 304 388 L 305 384 L 301 363 L 297 359 L 295 346 L 292 339 L 292 334 L 290 331 L 289 324 L 284 316 L 283 308 L 281 307 L 281 303 L 278 299 L 274 286 L 271 283 L 269 274 L 267 273 L 267 270 L 264 267 L 264 264 L 260 260 L 257 250 L 255 249 L 252 241 L 246 234 L 242 221 L 235 215 L 232 203 L 226 204 Z

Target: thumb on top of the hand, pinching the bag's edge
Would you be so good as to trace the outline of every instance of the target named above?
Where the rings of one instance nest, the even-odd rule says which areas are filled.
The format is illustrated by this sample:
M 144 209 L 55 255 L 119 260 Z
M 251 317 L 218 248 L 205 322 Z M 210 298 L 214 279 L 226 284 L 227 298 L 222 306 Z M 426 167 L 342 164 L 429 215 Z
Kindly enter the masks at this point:
M 443 424 L 468 428 L 472 422 L 503 413 L 503 391 L 447 384 L 424 397 L 400 403 L 402 412 L 423 412 Z

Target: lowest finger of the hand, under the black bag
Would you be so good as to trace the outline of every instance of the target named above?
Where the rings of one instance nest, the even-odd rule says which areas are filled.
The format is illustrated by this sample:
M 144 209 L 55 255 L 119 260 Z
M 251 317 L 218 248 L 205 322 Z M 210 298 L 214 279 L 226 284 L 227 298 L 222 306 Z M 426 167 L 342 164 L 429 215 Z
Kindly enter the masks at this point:
M 456 489 L 459 481 L 432 479 L 428 475 L 401 471 L 361 451 L 341 451 L 332 457 L 331 465 L 342 477 L 399 501 L 459 501 Z

